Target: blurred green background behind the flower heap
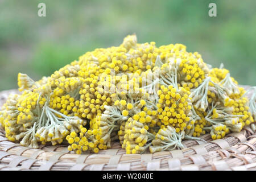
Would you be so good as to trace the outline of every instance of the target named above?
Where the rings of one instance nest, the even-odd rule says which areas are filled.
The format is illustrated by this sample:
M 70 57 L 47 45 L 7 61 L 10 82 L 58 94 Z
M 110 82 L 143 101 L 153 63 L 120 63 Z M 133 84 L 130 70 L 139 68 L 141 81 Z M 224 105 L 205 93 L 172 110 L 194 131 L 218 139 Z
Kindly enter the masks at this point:
M 38 16 L 40 2 L 46 17 Z M 210 2 L 217 17 L 208 15 Z M 256 85 L 255 7 L 255 0 L 0 0 L 0 90 L 16 88 L 18 72 L 39 80 L 133 33 L 139 43 L 185 44 L 214 67 L 224 63 L 240 84 Z

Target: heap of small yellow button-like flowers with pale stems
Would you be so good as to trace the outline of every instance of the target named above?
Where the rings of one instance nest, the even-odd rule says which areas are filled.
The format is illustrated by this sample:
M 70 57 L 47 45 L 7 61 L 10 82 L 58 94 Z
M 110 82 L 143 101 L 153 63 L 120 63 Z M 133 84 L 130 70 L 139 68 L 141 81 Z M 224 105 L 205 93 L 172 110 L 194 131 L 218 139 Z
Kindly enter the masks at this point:
M 127 154 L 183 148 L 184 139 L 255 131 L 256 87 L 246 92 L 223 68 L 182 44 L 156 47 L 129 35 L 118 47 L 86 52 L 49 77 L 18 74 L 21 94 L 0 110 L 6 137 L 23 146 L 69 143 L 97 153 L 119 140 Z

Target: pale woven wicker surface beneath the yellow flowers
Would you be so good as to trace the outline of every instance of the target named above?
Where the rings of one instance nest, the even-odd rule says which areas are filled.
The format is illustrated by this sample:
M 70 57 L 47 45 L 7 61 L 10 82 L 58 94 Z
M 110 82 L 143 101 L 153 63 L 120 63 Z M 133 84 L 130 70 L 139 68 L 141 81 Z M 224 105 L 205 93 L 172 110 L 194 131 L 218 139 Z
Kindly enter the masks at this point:
M 17 91 L 0 92 L 0 106 L 10 93 Z M 256 134 L 250 127 L 223 139 L 212 140 L 209 134 L 200 138 L 207 143 L 184 140 L 183 150 L 126 154 L 115 142 L 98 154 L 77 155 L 65 145 L 20 146 L 10 142 L 0 127 L 0 170 L 256 170 Z

